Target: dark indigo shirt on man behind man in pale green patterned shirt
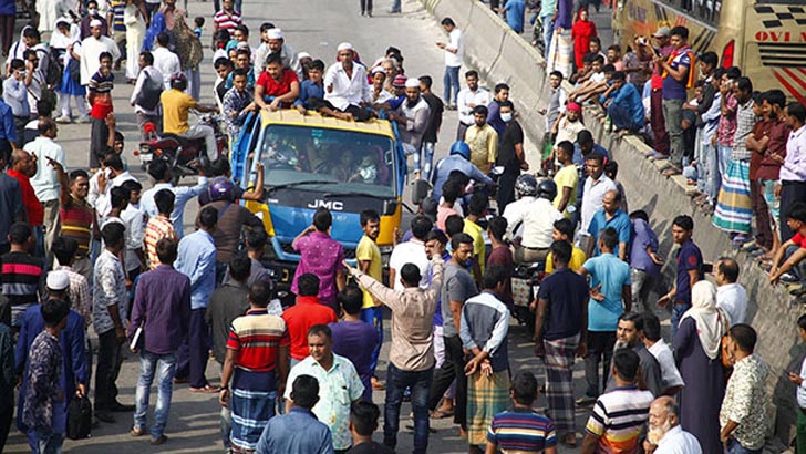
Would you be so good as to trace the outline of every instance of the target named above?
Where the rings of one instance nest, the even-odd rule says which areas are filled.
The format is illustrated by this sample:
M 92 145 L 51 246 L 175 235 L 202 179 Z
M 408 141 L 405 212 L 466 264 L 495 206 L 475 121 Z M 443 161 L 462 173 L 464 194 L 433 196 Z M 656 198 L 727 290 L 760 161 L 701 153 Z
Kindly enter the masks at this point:
M 333 353 L 340 354 L 355 367 L 364 384 L 364 399 L 372 401 L 372 352 L 378 345 L 375 327 L 365 321 L 342 321 L 328 324 L 333 332 Z

